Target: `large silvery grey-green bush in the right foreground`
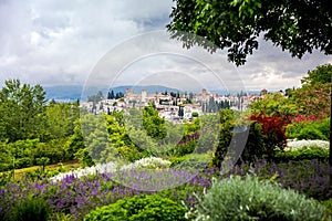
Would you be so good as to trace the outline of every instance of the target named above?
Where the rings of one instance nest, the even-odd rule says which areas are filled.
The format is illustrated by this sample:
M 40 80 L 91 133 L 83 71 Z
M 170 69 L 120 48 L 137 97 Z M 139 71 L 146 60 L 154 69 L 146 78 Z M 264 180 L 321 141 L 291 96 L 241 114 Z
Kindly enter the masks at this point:
M 214 180 L 196 209 L 196 220 L 322 220 L 329 214 L 313 199 L 257 177 Z

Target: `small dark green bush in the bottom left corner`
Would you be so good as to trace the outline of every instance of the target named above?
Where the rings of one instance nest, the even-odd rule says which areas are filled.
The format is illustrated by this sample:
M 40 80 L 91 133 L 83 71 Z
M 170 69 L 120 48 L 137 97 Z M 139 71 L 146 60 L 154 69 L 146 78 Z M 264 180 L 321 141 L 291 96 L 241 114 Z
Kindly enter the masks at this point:
M 42 198 L 28 197 L 12 208 L 9 221 L 46 221 L 51 215 L 50 203 Z

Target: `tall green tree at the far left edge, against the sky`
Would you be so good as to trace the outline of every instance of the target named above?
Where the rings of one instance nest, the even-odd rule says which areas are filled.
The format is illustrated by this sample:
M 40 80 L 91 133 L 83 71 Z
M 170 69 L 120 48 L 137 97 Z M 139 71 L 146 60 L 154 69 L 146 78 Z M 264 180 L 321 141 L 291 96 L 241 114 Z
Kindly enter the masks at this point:
M 29 138 L 44 118 L 45 92 L 40 85 L 8 80 L 0 88 L 0 140 Z

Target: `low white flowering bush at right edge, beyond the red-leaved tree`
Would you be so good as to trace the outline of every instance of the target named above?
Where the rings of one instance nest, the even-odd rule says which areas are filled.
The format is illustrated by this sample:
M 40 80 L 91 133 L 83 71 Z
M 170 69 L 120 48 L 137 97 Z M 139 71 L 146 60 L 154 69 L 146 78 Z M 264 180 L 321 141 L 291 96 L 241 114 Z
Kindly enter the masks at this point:
M 321 148 L 321 149 L 329 149 L 330 143 L 325 140 L 297 140 L 297 139 L 289 139 L 287 141 L 287 148 L 284 150 L 295 150 L 301 148 Z

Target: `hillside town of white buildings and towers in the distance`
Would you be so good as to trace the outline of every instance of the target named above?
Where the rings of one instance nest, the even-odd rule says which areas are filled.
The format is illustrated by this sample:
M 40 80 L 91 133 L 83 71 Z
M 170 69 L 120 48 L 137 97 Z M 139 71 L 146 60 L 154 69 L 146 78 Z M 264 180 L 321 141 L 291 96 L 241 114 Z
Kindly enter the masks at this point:
M 113 93 L 113 92 L 112 92 Z M 142 90 L 137 94 L 129 88 L 125 94 L 115 98 L 110 96 L 101 98 L 97 102 L 81 102 L 81 108 L 86 109 L 89 113 L 111 114 L 112 112 L 121 112 L 129 108 L 144 108 L 145 106 L 153 105 L 158 112 L 159 116 L 173 123 L 181 123 L 189 120 L 204 113 L 215 113 L 220 108 L 231 108 L 237 110 L 245 110 L 250 103 L 261 99 L 268 93 L 262 90 L 260 95 L 249 95 L 240 93 L 238 95 L 218 95 L 209 93 L 205 88 L 200 93 L 155 93 L 148 94 L 146 90 Z

